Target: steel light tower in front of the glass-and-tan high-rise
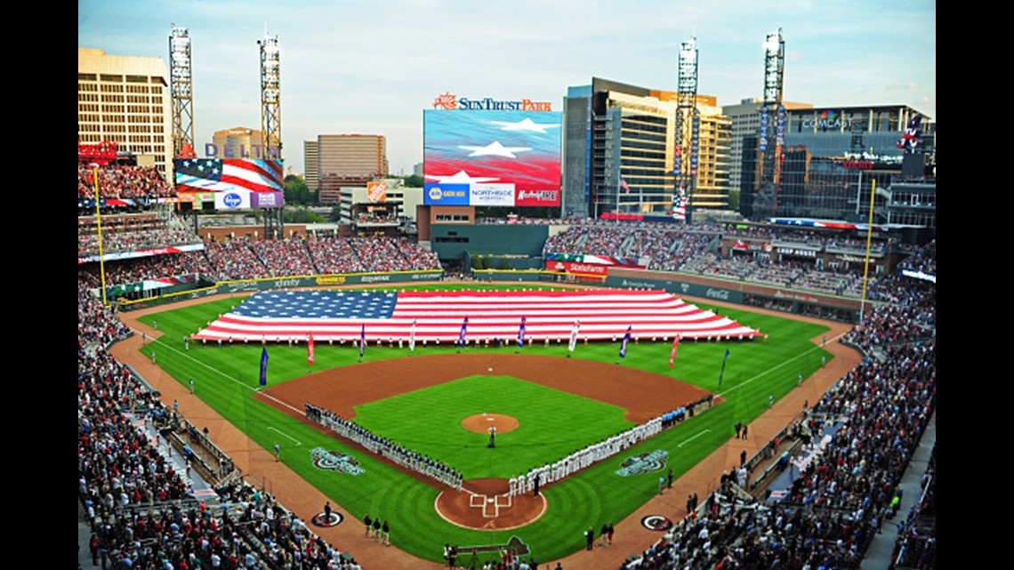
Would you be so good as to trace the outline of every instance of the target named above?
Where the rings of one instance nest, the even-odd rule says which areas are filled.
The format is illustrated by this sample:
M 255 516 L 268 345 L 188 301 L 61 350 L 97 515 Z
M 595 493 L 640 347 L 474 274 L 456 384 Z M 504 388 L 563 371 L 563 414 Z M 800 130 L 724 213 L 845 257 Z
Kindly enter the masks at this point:
M 693 221 L 694 190 L 697 186 L 698 135 L 701 120 L 697 112 L 698 49 L 697 38 L 679 46 L 679 69 L 676 78 L 675 145 L 672 174 L 675 189 L 673 210 L 682 200 L 686 204 L 686 223 Z

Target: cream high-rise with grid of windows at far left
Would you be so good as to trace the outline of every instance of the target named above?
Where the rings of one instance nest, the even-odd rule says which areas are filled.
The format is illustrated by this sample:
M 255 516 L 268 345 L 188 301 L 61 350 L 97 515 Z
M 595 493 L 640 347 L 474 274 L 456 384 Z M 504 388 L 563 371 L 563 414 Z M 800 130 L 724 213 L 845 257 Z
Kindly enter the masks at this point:
M 138 164 L 171 171 L 172 105 L 161 58 L 77 49 L 77 138 L 115 142 Z M 168 177 L 168 176 L 167 176 Z

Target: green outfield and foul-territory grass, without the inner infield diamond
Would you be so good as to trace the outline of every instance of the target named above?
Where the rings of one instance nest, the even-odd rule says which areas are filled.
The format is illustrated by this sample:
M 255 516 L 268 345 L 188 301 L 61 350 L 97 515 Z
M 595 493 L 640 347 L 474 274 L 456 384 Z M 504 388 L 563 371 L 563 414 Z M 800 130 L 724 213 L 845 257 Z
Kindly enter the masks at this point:
M 450 288 L 431 286 L 427 289 Z M 250 398 L 259 387 L 260 345 L 226 344 L 218 347 L 192 343 L 190 350 L 185 350 L 185 335 L 217 318 L 220 313 L 227 312 L 240 300 L 239 297 L 221 299 L 142 317 L 148 325 L 157 320 L 158 330 L 165 333 L 159 340 L 142 348 L 143 354 L 147 357 L 154 351 L 158 365 L 184 385 L 188 384 L 190 378 L 194 378 L 198 397 L 265 449 L 270 450 L 274 442 L 279 441 L 282 445 L 282 459 L 341 505 L 351 518 L 362 519 L 363 515 L 369 513 L 370 516 L 386 519 L 391 526 L 394 546 L 420 558 L 437 562 L 442 560 L 444 543 L 459 546 L 502 544 L 511 536 L 517 536 L 528 544 L 532 549 L 532 556 L 540 562 L 559 559 L 584 548 L 581 532 L 589 525 L 597 529 L 603 522 L 617 522 L 658 492 L 658 473 L 626 478 L 615 475 L 625 458 L 663 449 L 668 452 L 667 466 L 678 477 L 729 440 L 733 435 L 732 426 L 737 421 L 749 422 L 765 412 L 768 409 L 769 395 L 776 399 L 785 396 L 796 386 L 799 374 L 809 376 L 820 366 L 821 356 L 828 359 L 831 357 L 809 341 L 826 332 L 825 327 L 741 309 L 709 307 L 706 304 L 700 306 L 712 308 L 746 326 L 759 329 L 770 338 L 767 341 L 743 343 L 684 341 L 679 345 L 673 368 L 668 366 L 671 344 L 661 340 L 652 343 L 648 339 L 642 339 L 640 343 L 632 343 L 627 358 L 623 360 L 618 355 L 619 342 L 587 345 L 579 343 L 574 358 L 598 360 L 608 364 L 621 362 L 622 366 L 678 378 L 723 397 L 726 403 L 546 489 L 550 510 L 533 524 L 512 531 L 481 532 L 459 528 L 440 518 L 433 509 L 437 489 L 406 477 L 369 455 L 352 450 L 340 440 L 303 426 Z M 329 346 L 317 343 L 315 349 L 314 371 L 347 366 L 359 361 L 359 351 L 351 345 Z M 730 356 L 719 384 L 719 372 L 726 349 L 729 349 Z M 271 346 L 268 350 L 269 385 L 307 373 L 305 346 Z M 446 346 L 417 346 L 415 355 L 446 354 L 447 350 L 451 349 Z M 466 350 L 513 353 L 514 347 Z M 525 346 L 523 352 L 566 357 L 567 345 L 535 344 Z M 363 360 L 399 358 L 408 354 L 408 348 L 371 345 L 366 349 Z M 673 403 L 673 407 L 681 404 L 683 403 Z M 186 402 L 182 404 L 182 409 L 186 412 Z M 490 410 L 460 410 L 462 418 Z M 390 422 L 380 421 L 376 428 L 371 425 L 370 429 L 390 437 L 382 427 L 385 423 Z M 200 429 L 202 426 L 197 427 Z M 483 438 L 485 445 L 487 439 L 480 434 L 476 435 Z M 575 448 L 596 439 L 591 437 Z M 503 440 L 498 436 L 498 443 L 500 441 Z M 360 461 L 367 475 L 351 476 L 316 469 L 309 460 L 309 452 L 314 447 L 352 454 Z M 225 452 L 229 451 L 225 449 Z M 533 465 L 525 465 L 522 469 L 530 467 Z M 474 477 L 463 467 L 458 469 L 466 477 Z M 271 491 L 270 482 L 266 484 Z M 673 510 L 680 509 L 684 503 L 679 497 L 673 497 L 672 501 Z

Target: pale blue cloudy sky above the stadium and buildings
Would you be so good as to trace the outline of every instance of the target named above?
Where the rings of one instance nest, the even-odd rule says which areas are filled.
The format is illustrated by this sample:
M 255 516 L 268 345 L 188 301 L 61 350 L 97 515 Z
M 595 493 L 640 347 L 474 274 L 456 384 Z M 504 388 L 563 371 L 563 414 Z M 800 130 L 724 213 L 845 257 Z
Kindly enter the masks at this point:
M 281 51 L 282 157 L 303 141 L 383 135 L 392 174 L 423 160 L 423 111 L 458 97 L 563 111 L 592 77 L 676 90 L 696 40 L 698 93 L 760 97 L 768 33 L 785 41 L 783 99 L 815 108 L 908 104 L 936 120 L 936 0 L 78 0 L 79 48 L 157 57 L 172 24 L 192 40 L 195 149 L 261 128 L 260 51 Z

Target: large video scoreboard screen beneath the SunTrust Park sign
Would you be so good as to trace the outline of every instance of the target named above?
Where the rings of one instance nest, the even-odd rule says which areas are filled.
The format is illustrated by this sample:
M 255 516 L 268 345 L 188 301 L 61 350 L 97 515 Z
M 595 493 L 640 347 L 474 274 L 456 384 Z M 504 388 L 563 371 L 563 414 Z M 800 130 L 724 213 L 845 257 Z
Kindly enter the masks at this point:
M 451 203 L 443 193 L 434 200 L 431 187 L 465 185 L 454 205 L 559 206 L 562 124 L 552 111 L 424 111 L 425 203 Z

